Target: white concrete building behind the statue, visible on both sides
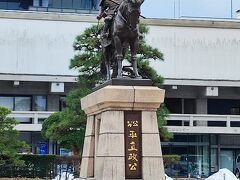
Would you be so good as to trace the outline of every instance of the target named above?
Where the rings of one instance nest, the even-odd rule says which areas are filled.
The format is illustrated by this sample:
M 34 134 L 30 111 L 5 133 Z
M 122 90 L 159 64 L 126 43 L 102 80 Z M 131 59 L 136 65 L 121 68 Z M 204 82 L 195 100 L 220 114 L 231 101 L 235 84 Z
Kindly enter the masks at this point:
M 74 38 L 96 23 L 93 6 L 84 10 L 66 8 L 64 0 L 54 6 L 50 2 L 55 1 L 29 1 L 25 11 L 11 11 L 10 1 L 5 8 L 0 1 L 0 8 L 8 9 L 0 11 L 0 105 L 13 110 L 21 138 L 33 153 L 41 143 L 48 143 L 48 153 L 56 153 L 52 142 L 42 139 L 41 123 L 61 110 L 62 97 L 76 82 L 77 72 L 68 69 Z M 174 133 L 170 142 L 162 142 L 163 154 L 181 156 L 166 171 L 185 177 L 204 177 L 222 167 L 235 171 L 240 154 L 240 21 L 143 21 L 150 27 L 147 41 L 165 56 L 164 62 L 152 62 L 165 77 L 167 128 Z

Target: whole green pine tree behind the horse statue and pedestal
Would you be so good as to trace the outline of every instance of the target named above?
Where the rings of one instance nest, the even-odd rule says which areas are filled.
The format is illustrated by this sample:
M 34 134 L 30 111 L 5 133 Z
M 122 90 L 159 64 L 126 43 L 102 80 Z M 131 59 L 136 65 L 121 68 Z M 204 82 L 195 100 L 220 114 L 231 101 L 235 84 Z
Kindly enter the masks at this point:
M 81 110 L 80 99 L 89 94 L 96 84 L 104 81 L 100 71 L 102 52 L 99 29 L 101 26 L 94 25 L 76 37 L 73 45 L 76 54 L 71 59 L 70 68 L 79 71 L 77 88 L 67 95 L 66 109 L 53 114 L 43 123 L 42 134 L 45 138 L 60 141 L 64 147 L 71 147 L 75 152 L 81 152 L 86 124 L 86 116 Z M 144 24 L 140 24 L 139 29 L 143 35 L 149 32 Z M 130 62 L 129 52 L 126 59 Z M 139 74 L 151 79 L 158 87 L 161 87 L 163 78 L 150 66 L 150 61 L 161 60 L 163 60 L 163 54 L 158 49 L 147 45 L 145 38 L 141 39 L 138 49 Z M 168 114 L 164 105 L 159 108 L 157 114 L 160 133 L 163 138 L 168 139 L 171 133 L 163 127 Z

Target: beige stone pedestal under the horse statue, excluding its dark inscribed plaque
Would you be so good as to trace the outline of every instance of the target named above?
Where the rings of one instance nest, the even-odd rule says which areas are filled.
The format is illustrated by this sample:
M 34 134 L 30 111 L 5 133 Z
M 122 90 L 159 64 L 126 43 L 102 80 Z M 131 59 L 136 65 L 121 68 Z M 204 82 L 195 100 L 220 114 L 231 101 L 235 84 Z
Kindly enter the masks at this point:
M 81 100 L 87 128 L 80 179 L 125 180 L 124 113 L 141 113 L 141 178 L 165 180 L 156 110 L 164 90 L 152 86 L 106 86 Z

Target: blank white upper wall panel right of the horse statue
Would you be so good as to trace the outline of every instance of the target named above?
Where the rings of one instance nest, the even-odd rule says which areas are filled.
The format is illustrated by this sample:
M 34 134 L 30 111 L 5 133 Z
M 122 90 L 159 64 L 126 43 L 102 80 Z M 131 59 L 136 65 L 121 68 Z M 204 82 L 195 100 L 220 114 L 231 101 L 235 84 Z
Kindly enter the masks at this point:
M 240 80 L 240 29 L 151 26 L 147 37 L 165 61 L 165 78 Z

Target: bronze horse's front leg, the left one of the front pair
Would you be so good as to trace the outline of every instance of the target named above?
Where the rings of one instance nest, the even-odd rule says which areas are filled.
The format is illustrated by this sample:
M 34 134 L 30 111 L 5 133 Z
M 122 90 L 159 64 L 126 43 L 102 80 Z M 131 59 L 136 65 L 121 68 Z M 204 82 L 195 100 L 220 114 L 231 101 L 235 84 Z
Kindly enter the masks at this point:
M 122 54 L 122 42 L 119 38 L 119 36 L 114 37 L 114 43 L 115 43 L 115 49 L 116 49 L 116 58 L 117 58 L 117 65 L 118 65 L 118 75 L 117 78 L 123 78 L 122 75 L 122 60 L 123 60 L 123 54 Z

